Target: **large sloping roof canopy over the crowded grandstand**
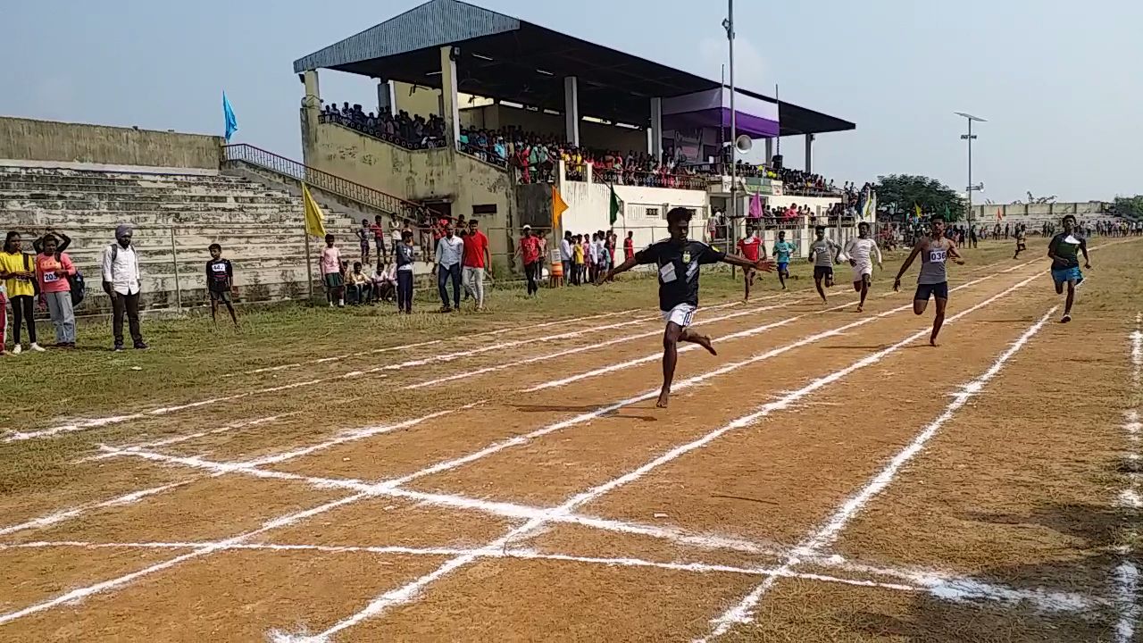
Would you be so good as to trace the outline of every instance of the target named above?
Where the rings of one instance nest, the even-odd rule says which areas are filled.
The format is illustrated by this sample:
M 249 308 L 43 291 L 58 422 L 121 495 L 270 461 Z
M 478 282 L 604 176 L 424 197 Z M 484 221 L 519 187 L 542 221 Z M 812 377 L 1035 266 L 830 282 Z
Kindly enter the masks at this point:
M 580 113 L 647 126 L 649 100 L 721 84 L 490 11 L 458 0 L 430 0 L 294 62 L 294 71 L 331 69 L 440 88 L 440 47 L 461 50 L 457 90 L 562 111 L 563 78 L 578 79 Z M 781 134 L 854 129 L 853 122 L 738 88 L 778 103 Z

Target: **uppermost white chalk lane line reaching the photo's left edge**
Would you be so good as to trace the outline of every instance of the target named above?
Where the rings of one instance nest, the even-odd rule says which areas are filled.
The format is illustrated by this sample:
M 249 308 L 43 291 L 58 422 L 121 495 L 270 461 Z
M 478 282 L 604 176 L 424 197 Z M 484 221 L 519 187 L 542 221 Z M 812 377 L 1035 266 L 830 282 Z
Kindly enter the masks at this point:
M 774 296 L 777 296 L 777 295 L 774 295 Z M 730 305 L 741 305 L 741 303 L 742 302 L 732 302 L 732 303 L 720 304 L 720 305 L 711 307 L 711 308 L 713 308 L 713 309 L 717 309 L 717 308 L 727 308 L 727 307 L 730 307 Z M 616 323 L 616 324 L 608 324 L 608 325 L 604 325 L 604 326 L 591 326 L 591 327 L 584 328 L 582 331 L 572 331 L 572 332 L 568 332 L 568 333 L 560 333 L 560 334 L 557 334 L 557 335 L 545 335 L 545 336 L 541 336 L 541 338 L 533 338 L 533 339 L 526 339 L 526 340 L 513 340 L 513 341 L 509 341 L 509 342 L 501 342 L 501 343 L 496 343 L 496 344 L 488 344 L 488 346 L 482 346 L 482 347 L 473 348 L 473 349 L 469 349 L 469 350 L 462 350 L 462 351 L 456 351 L 456 352 L 450 352 L 450 354 L 443 354 L 443 355 L 434 355 L 432 357 L 425 357 L 425 358 L 421 358 L 421 359 L 410 359 L 410 360 L 407 360 L 407 362 L 402 362 L 400 364 L 386 364 L 384 366 L 375 366 L 373 368 L 367 368 L 365 371 L 353 371 L 353 372 L 350 372 L 350 373 L 342 373 L 339 375 L 330 375 L 330 376 L 326 376 L 326 378 L 317 378 L 317 379 L 313 379 L 313 380 L 306 380 L 304 382 L 294 382 L 291 384 L 282 384 L 282 386 L 278 386 L 278 387 L 261 388 L 261 389 L 255 389 L 253 391 L 247 391 L 247 392 L 242 392 L 242 394 L 230 395 L 230 396 L 224 396 L 224 397 L 215 397 L 215 398 L 210 398 L 210 399 L 203 399 L 203 400 L 199 400 L 199 402 L 192 402 L 190 404 L 182 404 L 182 405 L 178 405 L 178 406 L 167 406 L 167 407 L 162 407 L 162 408 L 153 408 L 151 411 L 143 411 L 143 412 L 138 412 L 138 413 L 131 413 L 131 414 L 128 414 L 128 415 L 113 415 L 113 416 L 107 416 L 107 418 L 95 418 L 95 419 L 89 419 L 89 420 L 78 420 L 78 421 L 75 421 L 73 423 L 70 423 L 70 424 L 59 424 L 59 426 L 56 426 L 56 427 L 51 427 L 51 428 L 42 429 L 42 430 L 37 430 L 37 431 L 14 432 L 14 434 L 5 437 L 0 442 L 16 442 L 16 440 L 25 440 L 25 439 L 35 439 L 35 438 L 43 438 L 43 437 L 53 437 L 53 436 L 57 436 L 59 434 L 66 434 L 66 432 L 74 432 L 74 431 L 82 431 L 82 430 L 88 430 L 88 429 L 102 428 L 102 427 L 107 427 L 107 426 L 111 426 L 111 424 L 119 424 L 119 423 L 127 422 L 127 421 L 130 421 L 130 420 L 138 420 L 138 419 L 147 418 L 147 416 L 152 416 L 152 415 L 167 415 L 167 414 L 170 414 L 170 413 L 176 413 L 178 411 L 185 411 L 187 408 L 197 408 L 197 407 L 200 407 L 200 406 L 209 406 L 209 405 L 221 404 L 221 403 L 225 403 L 225 402 L 233 402 L 235 399 L 245 399 L 245 398 L 248 398 L 248 397 L 254 397 L 254 396 L 270 394 L 270 392 L 279 392 L 279 391 L 290 390 L 290 389 L 296 389 L 296 388 L 312 387 L 312 386 L 315 386 L 315 384 L 321 384 L 321 383 L 326 383 L 326 382 L 343 380 L 343 379 L 346 379 L 346 378 L 359 378 L 361 375 L 371 375 L 371 374 L 375 374 L 375 373 L 383 373 L 385 371 L 400 371 L 400 370 L 405 370 L 405 368 L 413 368 L 413 367 L 416 367 L 416 366 L 424 366 L 426 364 L 445 364 L 445 363 L 454 362 L 456 359 L 461 359 L 461 358 L 464 358 L 464 357 L 471 357 L 471 356 L 474 356 L 474 355 L 482 355 L 485 352 L 490 352 L 490 351 L 494 351 L 494 350 L 504 350 L 504 349 L 507 349 L 507 348 L 514 348 L 514 347 L 523 346 L 523 344 L 535 344 L 535 343 L 544 343 L 544 342 L 551 342 L 551 341 L 575 339 L 575 338 L 581 338 L 581 336 L 590 334 L 590 333 L 598 333 L 600 331 L 610 331 L 610 330 L 614 330 L 614 328 L 622 328 L 622 327 L 625 327 L 625 326 L 633 326 L 633 325 L 637 325 L 637 324 L 645 324 L 647 322 L 655 320 L 655 319 L 660 319 L 660 317 L 657 317 L 657 316 L 656 317 L 645 317 L 645 318 L 639 318 L 639 319 L 634 319 L 634 320 L 621 322 L 621 323 Z M 382 374 L 381 376 L 385 378 L 387 375 Z

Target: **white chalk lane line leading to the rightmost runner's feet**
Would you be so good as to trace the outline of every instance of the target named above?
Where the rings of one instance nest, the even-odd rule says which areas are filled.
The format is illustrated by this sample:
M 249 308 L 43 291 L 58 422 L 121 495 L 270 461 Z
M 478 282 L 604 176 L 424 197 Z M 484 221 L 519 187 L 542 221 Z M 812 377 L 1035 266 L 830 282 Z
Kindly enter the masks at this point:
M 1007 362 L 1012 359 L 1012 357 L 1016 355 L 1016 352 L 1020 351 L 1028 343 L 1028 341 L 1044 327 L 1058 308 L 1058 305 L 1053 307 L 1046 315 L 1044 315 L 1044 317 L 1039 319 L 1039 322 L 1024 331 L 1024 333 L 1021 334 L 1020 338 L 1017 338 L 1016 341 L 1013 342 L 982 375 L 964 384 L 959 390 L 953 391 L 953 399 L 945 407 L 944 412 L 925 427 L 913 438 L 913 442 L 901 450 L 889 461 L 889 463 L 873 477 L 873 479 L 871 479 L 856 494 L 846 500 L 846 502 L 839 506 L 822 527 L 807 534 L 793 553 L 786 557 L 781 569 L 792 571 L 798 565 L 802 564 L 804 557 L 820 554 L 823 548 L 832 545 L 841 530 L 849 524 L 849 521 L 853 519 L 853 517 L 856 516 L 873 497 L 879 494 L 889 485 L 889 483 L 893 482 L 901 468 L 921 452 L 928 440 L 936 435 L 936 432 L 941 430 L 941 428 L 949 420 L 951 420 L 953 415 L 956 415 L 957 411 L 964 407 L 969 399 L 978 395 L 984 389 L 985 384 L 988 384 L 997 375 L 997 373 L 1004 368 L 1005 364 L 1007 364 Z M 718 638 L 729 632 L 735 625 L 751 622 L 753 620 L 754 608 L 758 605 L 758 602 L 761 601 L 766 592 L 774 586 L 775 578 L 776 577 L 770 577 L 766 579 L 761 585 L 744 596 L 736 605 L 713 619 L 711 622 L 714 627 L 710 635 L 698 638 L 696 642 L 708 642 L 713 638 Z

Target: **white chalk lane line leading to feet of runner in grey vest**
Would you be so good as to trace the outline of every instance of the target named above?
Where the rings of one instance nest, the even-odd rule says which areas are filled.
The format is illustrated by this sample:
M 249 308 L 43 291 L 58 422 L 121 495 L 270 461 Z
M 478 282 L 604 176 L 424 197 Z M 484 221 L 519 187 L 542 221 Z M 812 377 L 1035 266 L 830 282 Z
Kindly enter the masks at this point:
M 964 316 L 966 316 L 966 315 L 968 315 L 970 312 L 974 312 L 974 311 L 976 311 L 976 310 L 978 310 L 981 308 L 984 308 L 984 307 L 989 305 L 990 303 L 997 301 L 998 299 L 1000 299 L 1000 297 L 1002 297 L 1002 296 L 1005 296 L 1005 295 L 1007 295 L 1007 294 L 1009 294 L 1009 293 L 1012 293 L 1014 291 L 1016 291 L 1017 288 L 1021 288 L 1021 287 L 1030 284 L 1032 280 L 1034 280 L 1037 278 L 1039 278 L 1038 275 L 1033 276 L 1033 277 L 1029 277 L 1028 279 L 1024 279 L 1023 281 L 1016 284 L 1015 286 L 1012 286 L 1012 287 L 1009 287 L 1009 288 L 1007 288 L 1007 289 L 1005 289 L 1005 291 L 1002 291 L 1002 292 L 1000 292 L 1000 293 L 998 293 L 998 294 L 996 294 L 996 295 L 993 295 L 993 296 L 991 296 L 991 297 L 989 297 L 989 299 L 986 299 L 986 300 L 984 300 L 984 301 L 982 301 L 982 302 L 980 302 L 980 303 L 977 303 L 977 304 L 975 304 L 975 305 L 973 305 L 973 307 L 970 307 L 970 308 L 968 308 L 968 309 L 966 309 L 966 310 L 964 310 L 961 312 L 958 312 L 957 315 L 953 315 L 953 316 L 949 317 L 945 320 L 945 324 L 951 324 L 951 323 L 956 322 L 957 319 L 959 319 L 959 318 L 961 318 L 961 317 L 964 317 Z M 1053 311 L 1055 309 L 1053 309 Z M 1042 319 L 1040 322 L 1041 326 L 1042 326 L 1042 324 L 1044 324 L 1044 322 L 1046 319 L 1047 319 L 1047 317 L 1045 317 L 1045 319 Z M 725 434 L 727 434 L 729 431 L 734 431 L 734 430 L 737 430 L 737 429 L 741 429 L 741 428 L 744 428 L 744 427 L 749 427 L 749 426 L 753 424 L 754 422 L 757 422 L 758 420 L 760 420 L 760 419 L 762 419 L 762 418 L 765 418 L 765 416 L 774 413 L 775 411 L 782 411 L 782 410 L 785 410 L 785 408 L 790 407 L 792 404 L 794 404 L 796 402 L 798 402 L 802 397 L 806 397 L 807 395 L 809 395 L 809 394 L 818 390 L 820 388 L 825 387 L 825 386 L 828 386 L 830 383 L 833 383 L 833 382 L 836 382 L 836 381 L 838 381 L 838 380 L 840 380 L 840 379 L 849 375 L 854 371 L 857 371 L 857 370 L 864 368 L 866 366 L 877 364 L 878 362 L 880 362 L 881 359 L 884 359 L 886 356 L 901 350 L 902 348 L 904 348 L 905 346 L 908 346 L 910 343 L 916 342 L 917 340 L 926 336 L 928 333 L 929 333 L 928 328 L 922 330 L 922 331 L 918 331 L 917 333 L 913 333 L 913 334 L 909 335 L 908 338 L 905 338 L 901 342 L 897 342 L 897 343 L 893 344 L 889 348 L 879 350 L 879 351 L 873 352 L 873 354 L 871 354 L 871 355 L 869 355 L 869 356 L 866 356 L 866 357 L 864 357 L 862 359 L 858 359 L 857 362 L 850 364 L 849 366 L 847 366 L 847 367 L 845 367 L 845 368 L 842 368 L 840 371 L 834 371 L 833 373 L 830 373 L 829 375 L 818 378 L 818 379 L 814 380 L 813 382 L 810 382 L 809 384 L 802 387 L 801 389 L 798 389 L 796 391 L 789 392 L 789 394 L 786 394 L 785 396 L 783 396 L 782 398 L 780 398 L 777 400 L 774 400 L 774 402 L 770 402 L 768 404 L 765 404 L 758 411 L 756 411 L 753 413 L 750 413 L 748 415 L 744 415 L 742 418 L 738 418 L 737 420 L 734 420 L 734 421 L 729 422 L 728 424 L 725 424 L 721 428 L 716 429 L 716 430 L 706 434 L 705 436 L 703 436 L 703 437 L 701 437 L 701 438 L 698 438 L 698 439 L 696 439 L 694 442 L 690 442 L 688 444 L 678 446 L 678 447 L 676 447 L 676 448 L 673 448 L 673 450 L 671 450 L 671 451 L 669 451 L 669 452 L 660 455 L 658 458 L 656 458 L 656 459 L 654 459 L 654 460 L 645 463 L 644 466 L 641 466 L 641 467 L 639 467 L 639 468 L 637 468 L 637 469 L 634 469 L 632 471 L 629 471 L 629 473 L 624 474 L 623 476 L 620 476 L 617 478 L 613 478 L 612 481 L 608 481 L 608 482 L 606 482 L 606 483 L 604 483 L 601 485 L 594 486 L 594 487 L 592 487 L 592 489 L 590 489 L 590 490 L 588 490 L 585 492 L 582 492 L 582 493 L 578 493 L 576 495 L 573 495 L 572 498 L 569 498 L 566 502 L 563 502 L 559 507 L 550 510 L 550 514 L 551 515 L 561 515 L 561 514 L 566 515 L 566 514 L 570 514 L 576 508 L 581 507 L 582 505 L 584 505 L 586 502 L 591 502 L 591 501 L 593 501 L 593 500 L 602 497 L 604 494 L 607 494 L 607 493 L 609 493 L 609 492 L 612 492 L 612 491 L 614 491 L 614 490 L 616 490 L 616 489 L 618 489 L 618 487 L 621 487 L 623 485 L 626 485 L 626 484 L 629 484 L 631 482 L 634 482 L 634 481 L 641 478 L 642 476 L 645 476 L 646 474 L 650 473 L 652 470 L 654 470 L 654 469 L 656 469 L 656 468 L 658 468 L 658 467 L 661 467 L 663 465 L 666 465 L 666 463 L 669 463 L 669 462 L 678 459 L 679 457 L 681 457 L 681 455 L 684 455 L 686 453 L 689 453 L 689 452 L 692 452 L 692 451 L 694 451 L 696 448 L 701 448 L 701 447 L 705 446 L 706 444 L 709 444 L 709 443 L 711 443 L 711 442 L 720 438 L 722 435 L 725 435 Z M 968 397 L 964 397 L 964 399 L 967 400 Z M 961 404 L 964 404 L 964 403 L 961 403 Z M 515 529 L 512 529 L 507 533 L 505 533 L 503 537 L 501 537 L 501 538 L 498 538 L 496 540 L 490 541 L 482 549 L 491 550 L 491 549 L 503 549 L 503 548 L 506 548 L 513 540 L 515 540 L 518 538 L 527 537 L 528 534 L 535 532 L 537 529 L 544 526 L 544 524 L 546 524 L 547 522 L 550 522 L 550 518 L 549 518 L 547 515 L 537 516 L 535 518 L 531 518 L 527 523 L 525 523 L 523 525 L 520 525 L 520 526 L 518 526 Z M 454 558 L 450 558 L 450 559 L 446 561 L 445 563 L 442 563 L 439 567 L 437 567 L 432 572 L 430 572 L 427 574 L 424 574 L 421 578 L 417 578 L 416 580 L 414 580 L 411 582 L 408 582 L 408 584 L 401 586 L 401 587 L 395 588 L 395 589 L 391 589 L 391 590 L 389 590 L 389 592 L 386 592 L 386 593 L 384 593 L 384 594 L 382 594 L 382 595 L 373 598 L 360 611 L 358 611 L 357 613 L 353 613 L 353 614 L 346 617 L 345 619 L 342 619 L 341 621 L 336 622 L 335 625 L 333 625 L 328 629 L 321 632 L 320 634 L 312 635 L 312 636 L 297 636 L 297 635 L 290 635 L 288 633 L 282 633 L 282 632 L 272 632 L 272 633 L 270 633 L 271 640 L 274 641 L 275 643 L 328 643 L 331 640 L 331 637 L 334 635 L 336 635 L 337 633 L 339 633 L 339 632 L 344 632 L 345 629 L 352 628 L 352 627 L 357 626 L 358 624 L 360 624 L 360 622 L 362 622 L 365 620 L 368 620 L 368 619 L 371 619 L 371 618 L 377 617 L 379 614 L 383 614 L 383 613 L 385 613 L 386 611 L 389 611 L 390 609 L 392 609 L 394 606 L 403 605 L 403 604 L 407 604 L 407 603 L 410 603 L 410 602 L 415 601 L 419 596 L 419 594 L 422 593 L 422 590 L 424 590 L 426 587 L 429 587 L 430 585 L 434 584 L 435 581 L 440 580 L 441 578 L 445 578 L 445 577 L 451 574 L 454 571 L 467 566 L 472 562 L 477 561 L 479 557 L 480 557 L 479 554 L 466 554 L 466 555 L 463 555 L 463 556 L 456 556 Z M 783 567 L 786 567 L 786 566 L 790 566 L 790 565 L 788 564 L 788 565 L 784 565 Z M 790 570 L 782 569 L 782 571 L 783 572 L 789 572 Z M 770 579 L 767 579 L 767 580 L 772 580 L 773 578 L 774 577 L 770 577 Z

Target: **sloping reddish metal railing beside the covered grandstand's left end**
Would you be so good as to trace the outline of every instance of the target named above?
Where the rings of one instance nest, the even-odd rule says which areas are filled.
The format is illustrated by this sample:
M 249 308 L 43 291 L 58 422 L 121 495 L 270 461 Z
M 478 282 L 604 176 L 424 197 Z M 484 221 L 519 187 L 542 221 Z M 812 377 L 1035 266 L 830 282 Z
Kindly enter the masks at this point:
M 307 183 L 326 192 L 345 197 L 346 199 L 395 215 L 399 219 L 419 220 L 422 214 L 432 212 L 432 208 L 427 206 L 386 195 L 381 190 L 354 183 L 335 174 L 329 174 L 328 172 L 269 152 L 262 148 L 239 143 L 223 145 L 222 151 L 224 162 L 246 162 L 255 167 L 269 169 L 286 178 Z

